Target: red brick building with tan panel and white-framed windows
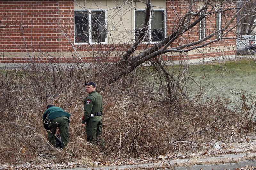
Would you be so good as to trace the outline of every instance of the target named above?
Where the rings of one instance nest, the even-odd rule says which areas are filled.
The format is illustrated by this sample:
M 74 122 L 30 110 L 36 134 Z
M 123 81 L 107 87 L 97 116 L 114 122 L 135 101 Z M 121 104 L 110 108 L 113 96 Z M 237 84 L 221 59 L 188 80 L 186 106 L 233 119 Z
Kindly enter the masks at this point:
M 138 52 L 177 30 L 189 9 L 189 4 L 180 0 L 151 3 L 150 30 Z M 211 3 L 210 6 L 216 5 L 215 1 Z M 200 3 L 193 4 L 193 11 L 198 9 Z M 144 10 L 145 4 L 133 1 L 124 4 L 112 0 L 0 0 L 0 63 L 115 60 L 140 32 Z M 228 11 L 231 17 L 232 12 Z M 203 39 L 226 25 L 230 16 L 224 12 L 207 16 L 170 47 Z M 234 33 L 225 36 L 234 37 Z M 233 55 L 234 46 L 234 39 L 225 39 L 186 55 L 172 52 L 164 57 L 166 60 L 215 58 Z

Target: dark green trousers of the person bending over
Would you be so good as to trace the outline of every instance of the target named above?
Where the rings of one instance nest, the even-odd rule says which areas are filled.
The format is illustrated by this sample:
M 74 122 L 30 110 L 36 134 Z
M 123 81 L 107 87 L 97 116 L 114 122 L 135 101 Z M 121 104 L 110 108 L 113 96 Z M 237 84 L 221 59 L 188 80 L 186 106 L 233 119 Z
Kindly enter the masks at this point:
M 60 138 L 61 138 L 62 146 L 65 147 L 66 145 L 68 145 L 68 142 L 69 142 L 68 117 L 61 116 L 61 117 L 56 117 L 55 119 L 52 119 L 51 126 L 52 126 L 52 130 L 50 132 L 48 131 L 49 142 L 54 146 L 56 145 L 55 132 L 58 127 L 59 131 L 60 131 Z

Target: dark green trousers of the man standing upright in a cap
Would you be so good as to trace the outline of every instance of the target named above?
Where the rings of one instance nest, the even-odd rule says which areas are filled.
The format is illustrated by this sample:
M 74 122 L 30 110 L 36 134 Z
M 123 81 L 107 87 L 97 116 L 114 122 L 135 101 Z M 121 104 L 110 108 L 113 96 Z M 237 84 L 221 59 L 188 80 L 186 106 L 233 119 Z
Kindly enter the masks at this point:
M 85 132 L 87 135 L 87 141 L 96 145 L 100 144 L 101 147 L 105 147 L 105 140 L 101 138 L 102 133 L 102 118 L 101 116 L 94 116 L 86 120 Z

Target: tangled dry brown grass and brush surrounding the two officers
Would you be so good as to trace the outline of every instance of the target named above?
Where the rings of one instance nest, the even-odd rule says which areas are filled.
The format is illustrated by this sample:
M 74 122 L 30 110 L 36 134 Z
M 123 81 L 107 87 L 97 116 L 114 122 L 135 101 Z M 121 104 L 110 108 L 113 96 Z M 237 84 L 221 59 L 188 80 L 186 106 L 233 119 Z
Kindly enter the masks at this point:
M 122 160 L 207 151 L 214 141 L 230 142 L 234 135 L 255 131 L 255 98 L 242 96 L 241 106 L 228 109 L 228 100 L 189 101 L 176 91 L 174 100 L 157 96 L 155 89 L 130 75 L 102 86 L 97 71 L 41 66 L 1 72 L 0 164 Z M 97 74 L 96 74 L 97 73 Z M 135 79 L 136 78 L 136 79 Z M 84 80 L 92 80 L 104 99 L 103 134 L 108 155 L 85 141 Z M 147 82 L 147 81 L 145 81 Z M 153 87 L 153 86 L 152 86 Z M 161 90 L 159 96 L 164 96 Z M 247 100 L 248 99 L 248 100 Z M 251 103 L 251 104 L 250 104 Z M 70 143 L 59 150 L 47 141 L 42 115 L 48 104 L 69 112 Z M 192 107 L 193 106 L 193 107 Z

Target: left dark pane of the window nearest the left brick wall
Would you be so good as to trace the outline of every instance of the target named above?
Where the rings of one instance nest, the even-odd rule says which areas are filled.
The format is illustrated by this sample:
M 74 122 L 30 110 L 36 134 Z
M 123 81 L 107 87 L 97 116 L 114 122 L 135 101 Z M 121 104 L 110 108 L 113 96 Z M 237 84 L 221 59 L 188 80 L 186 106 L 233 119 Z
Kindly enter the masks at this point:
M 88 11 L 75 11 L 75 42 L 89 42 Z

